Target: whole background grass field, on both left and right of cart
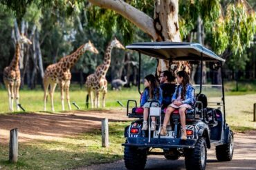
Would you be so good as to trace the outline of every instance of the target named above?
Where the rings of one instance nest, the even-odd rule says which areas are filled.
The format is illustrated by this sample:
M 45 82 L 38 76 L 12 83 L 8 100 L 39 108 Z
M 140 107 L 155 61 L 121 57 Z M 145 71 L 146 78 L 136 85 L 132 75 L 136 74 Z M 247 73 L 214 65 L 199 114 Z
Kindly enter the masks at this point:
M 236 83 L 235 81 L 231 81 L 228 83 L 225 83 L 225 91 L 226 96 L 234 96 L 234 95 L 244 95 L 244 94 L 255 94 L 256 93 L 256 82 L 239 82 L 239 91 L 236 92 Z M 140 86 L 140 89 L 143 90 L 143 85 Z M 109 87 L 109 89 L 111 89 Z M 205 92 L 204 92 L 205 93 Z M 72 105 L 73 102 L 75 102 L 80 109 L 86 110 L 85 100 L 86 100 L 86 94 L 84 88 L 80 89 L 78 85 L 71 85 L 70 89 L 70 100 L 71 100 L 71 107 L 72 109 L 76 109 L 74 105 Z M 221 95 L 221 91 L 219 92 L 214 89 L 212 91 L 212 94 L 216 94 L 217 96 Z M 212 95 L 211 94 L 211 95 Z M 0 88 L 0 114 L 8 112 L 8 94 L 6 89 L 4 87 Z M 30 90 L 27 87 L 24 87 L 24 89 L 20 90 L 20 100 L 19 103 L 21 103 L 22 107 L 26 109 L 26 111 L 43 111 L 44 109 L 44 91 L 41 87 L 37 87 L 37 89 Z M 128 99 L 133 99 L 139 101 L 140 96 L 138 94 L 137 87 L 131 87 L 123 88 L 121 92 L 116 92 L 109 90 L 107 93 L 107 100 L 106 100 L 106 107 L 107 109 L 111 109 L 113 107 L 120 107 L 120 105 L 117 103 L 119 100 L 123 105 L 126 105 Z M 55 111 L 61 111 L 61 101 L 60 101 L 60 91 L 58 87 L 56 88 L 55 94 L 54 94 L 54 105 L 55 105 Z M 100 96 L 100 103 L 102 103 L 101 96 Z M 48 103 L 47 103 L 47 109 L 48 111 L 51 111 L 51 104 L 50 104 L 50 97 L 48 96 Z M 68 109 L 67 103 L 65 100 L 65 109 Z

